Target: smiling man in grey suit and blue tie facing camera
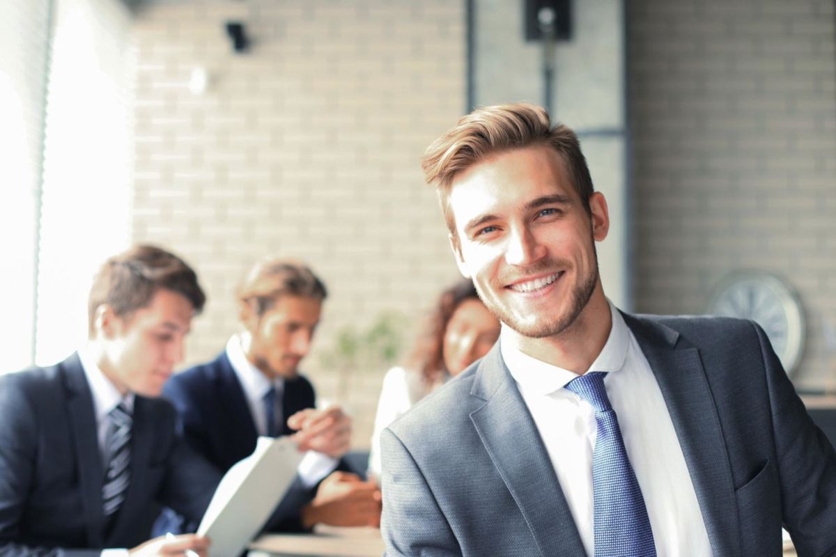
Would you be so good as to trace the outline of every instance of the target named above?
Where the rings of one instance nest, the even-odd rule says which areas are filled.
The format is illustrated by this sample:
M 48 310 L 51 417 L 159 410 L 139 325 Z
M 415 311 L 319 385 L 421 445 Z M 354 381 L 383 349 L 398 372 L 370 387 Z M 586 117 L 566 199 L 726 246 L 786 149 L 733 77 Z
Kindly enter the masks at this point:
M 836 551 L 836 454 L 752 322 L 604 296 L 609 212 L 577 137 L 528 104 L 427 149 L 499 342 L 385 430 L 389 555 Z

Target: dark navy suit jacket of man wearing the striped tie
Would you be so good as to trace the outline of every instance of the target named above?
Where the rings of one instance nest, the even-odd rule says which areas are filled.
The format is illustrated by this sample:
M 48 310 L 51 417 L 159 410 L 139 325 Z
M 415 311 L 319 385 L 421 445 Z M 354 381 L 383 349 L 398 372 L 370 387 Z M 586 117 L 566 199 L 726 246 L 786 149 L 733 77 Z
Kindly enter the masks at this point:
M 199 519 L 220 475 L 179 442 L 174 408 L 137 396 L 133 423 L 130 488 L 105 535 L 104 467 L 79 357 L 0 377 L 0 555 L 134 547 L 150 537 L 155 502 Z

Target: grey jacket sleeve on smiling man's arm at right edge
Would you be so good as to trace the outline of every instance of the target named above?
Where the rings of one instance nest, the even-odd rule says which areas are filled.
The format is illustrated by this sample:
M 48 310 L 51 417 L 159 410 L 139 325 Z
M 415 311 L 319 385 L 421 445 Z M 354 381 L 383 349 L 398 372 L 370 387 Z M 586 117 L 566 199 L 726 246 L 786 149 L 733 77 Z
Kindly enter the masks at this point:
M 761 346 L 772 408 L 781 484 L 783 526 L 799 557 L 836 553 L 836 453 L 813 424 L 766 333 L 753 324 Z

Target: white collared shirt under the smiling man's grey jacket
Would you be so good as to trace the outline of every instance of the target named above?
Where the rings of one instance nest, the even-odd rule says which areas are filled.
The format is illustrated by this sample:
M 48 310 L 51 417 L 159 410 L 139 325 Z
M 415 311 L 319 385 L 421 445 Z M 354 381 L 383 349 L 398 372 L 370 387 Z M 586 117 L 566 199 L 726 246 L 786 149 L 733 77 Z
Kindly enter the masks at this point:
M 656 554 L 711 555 L 696 491 L 650 364 L 615 306 L 612 329 L 589 371 L 607 372 L 604 385 L 619 418 L 627 456 L 635 471 L 653 529 Z M 594 554 L 592 453 L 597 436 L 594 410 L 563 388 L 578 377 L 519 352 L 500 349 L 551 458 L 584 549 Z

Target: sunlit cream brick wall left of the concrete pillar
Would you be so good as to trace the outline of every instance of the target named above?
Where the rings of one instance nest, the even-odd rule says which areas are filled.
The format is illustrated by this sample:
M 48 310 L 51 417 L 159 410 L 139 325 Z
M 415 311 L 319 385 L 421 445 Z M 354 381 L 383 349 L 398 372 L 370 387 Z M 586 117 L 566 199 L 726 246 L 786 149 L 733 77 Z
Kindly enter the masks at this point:
M 304 368 L 341 327 L 382 311 L 414 320 L 457 275 L 419 160 L 465 105 L 463 3 L 436 0 L 150 2 L 135 21 L 135 241 L 186 257 L 208 292 L 188 362 L 236 330 L 232 291 L 278 251 L 308 261 L 331 296 Z M 232 53 L 223 23 L 246 23 Z M 203 66 L 206 94 L 186 88 Z M 412 331 L 405 330 L 406 344 Z M 367 443 L 383 369 L 356 370 L 348 403 Z M 356 386 L 356 387 L 355 387 Z

